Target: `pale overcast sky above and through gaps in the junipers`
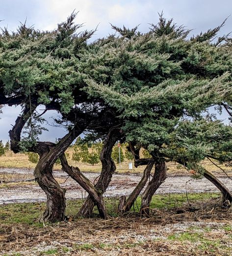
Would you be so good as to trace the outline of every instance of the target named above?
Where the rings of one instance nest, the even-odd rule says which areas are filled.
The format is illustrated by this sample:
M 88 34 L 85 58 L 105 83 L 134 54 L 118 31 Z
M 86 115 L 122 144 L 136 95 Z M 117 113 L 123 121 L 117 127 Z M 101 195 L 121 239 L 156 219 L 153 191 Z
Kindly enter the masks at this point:
M 3 20 L 0 26 L 15 30 L 19 22 L 27 20 L 27 24 L 35 28 L 52 30 L 74 9 L 79 11 L 76 22 L 84 23 L 86 29 L 94 29 L 99 24 L 93 39 L 111 33 L 109 23 L 129 28 L 140 24 L 139 29 L 145 32 L 149 23 L 157 23 L 157 13 L 162 10 L 166 18 L 173 17 L 178 25 L 194 29 L 192 33 L 197 34 L 217 27 L 230 16 L 232 0 L 0 0 L 0 20 Z M 232 17 L 229 17 L 221 34 L 231 31 Z M 8 140 L 8 131 L 19 113 L 19 107 L 3 108 L 0 115 L 3 142 Z M 50 115 L 47 114 L 48 121 Z M 64 134 L 62 129 L 48 128 L 50 132 L 45 132 L 41 140 L 54 141 Z

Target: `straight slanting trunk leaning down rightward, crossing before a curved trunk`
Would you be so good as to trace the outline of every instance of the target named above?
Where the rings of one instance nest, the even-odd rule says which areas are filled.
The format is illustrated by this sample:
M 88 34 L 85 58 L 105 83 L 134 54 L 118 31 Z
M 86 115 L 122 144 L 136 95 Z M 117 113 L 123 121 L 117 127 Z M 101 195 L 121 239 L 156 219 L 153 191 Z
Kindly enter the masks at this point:
M 102 194 L 94 187 L 94 184 L 80 172 L 77 167 L 68 165 L 65 155 L 62 155 L 60 160 L 62 170 L 67 172 L 70 177 L 76 180 L 77 183 L 88 192 L 89 197 L 98 207 L 100 217 L 106 219 L 107 215 Z

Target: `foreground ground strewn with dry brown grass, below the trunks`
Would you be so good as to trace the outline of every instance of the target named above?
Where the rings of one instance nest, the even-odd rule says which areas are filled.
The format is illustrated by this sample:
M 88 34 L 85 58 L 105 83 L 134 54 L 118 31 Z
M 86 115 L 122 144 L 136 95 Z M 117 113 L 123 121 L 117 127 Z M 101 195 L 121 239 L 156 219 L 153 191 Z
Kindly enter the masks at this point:
M 216 205 L 156 209 L 137 214 L 77 219 L 41 227 L 0 224 L 1 255 L 231 256 L 232 211 Z M 180 213 L 181 210 L 181 213 Z

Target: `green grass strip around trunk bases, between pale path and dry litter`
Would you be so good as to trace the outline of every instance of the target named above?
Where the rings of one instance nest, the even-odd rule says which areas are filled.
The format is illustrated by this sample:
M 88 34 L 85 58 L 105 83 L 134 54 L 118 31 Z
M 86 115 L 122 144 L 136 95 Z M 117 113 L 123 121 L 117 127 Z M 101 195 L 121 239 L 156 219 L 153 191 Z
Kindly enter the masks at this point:
M 190 202 L 202 202 L 203 200 L 216 198 L 218 196 L 218 193 L 194 193 L 189 194 L 188 199 Z M 107 212 L 110 216 L 117 217 L 118 201 L 119 199 L 115 198 L 105 198 Z M 70 216 L 71 219 L 75 219 L 82 202 L 82 199 L 67 201 L 66 215 Z M 186 202 L 187 199 L 185 194 L 155 195 L 150 207 L 156 209 L 171 209 L 173 207 L 181 207 Z M 140 205 L 141 197 L 136 200 L 134 206 L 132 206 L 130 210 L 139 212 Z M 43 223 L 38 222 L 38 219 L 43 215 L 45 207 L 45 203 L 12 203 L 2 205 L 0 207 L 0 219 L 4 224 L 10 225 L 20 223 L 42 228 Z M 97 207 L 94 208 L 93 214 L 98 216 Z

